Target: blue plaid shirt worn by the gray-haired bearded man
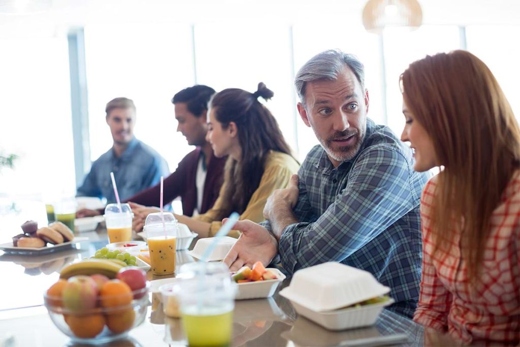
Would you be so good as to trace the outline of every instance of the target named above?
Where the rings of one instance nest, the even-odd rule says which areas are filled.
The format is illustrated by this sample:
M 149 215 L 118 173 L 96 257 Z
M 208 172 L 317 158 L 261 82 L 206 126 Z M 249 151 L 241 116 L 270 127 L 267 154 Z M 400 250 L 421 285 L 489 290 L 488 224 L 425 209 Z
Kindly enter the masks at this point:
M 300 223 L 285 227 L 279 241 L 284 271 L 329 261 L 365 269 L 391 288 L 391 310 L 412 317 L 421 279 L 419 202 L 430 176 L 412 166 L 410 148 L 370 119 L 357 155 L 337 168 L 314 147 L 298 172 Z

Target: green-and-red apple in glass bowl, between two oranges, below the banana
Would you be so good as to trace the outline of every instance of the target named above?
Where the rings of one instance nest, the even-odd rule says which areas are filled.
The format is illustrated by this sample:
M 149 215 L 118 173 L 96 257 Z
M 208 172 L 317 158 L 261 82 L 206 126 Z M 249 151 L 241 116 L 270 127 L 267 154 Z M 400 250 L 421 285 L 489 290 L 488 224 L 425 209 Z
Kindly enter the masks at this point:
M 96 307 L 98 289 L 90 276 L 72 276 L 61 292 L 63 306 L 71 311 L 83 312 Z

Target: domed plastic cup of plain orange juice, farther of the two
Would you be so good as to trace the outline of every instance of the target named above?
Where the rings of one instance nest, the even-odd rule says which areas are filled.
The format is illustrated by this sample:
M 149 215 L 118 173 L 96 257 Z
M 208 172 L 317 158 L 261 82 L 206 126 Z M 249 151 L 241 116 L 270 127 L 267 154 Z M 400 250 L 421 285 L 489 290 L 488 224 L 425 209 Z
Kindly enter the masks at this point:
M 107 224 L 107 234 L 109 243 L 132 241 L 132 209 L 127 203 L 119 205 L 110 203 L 105 208 L 105 222 Z

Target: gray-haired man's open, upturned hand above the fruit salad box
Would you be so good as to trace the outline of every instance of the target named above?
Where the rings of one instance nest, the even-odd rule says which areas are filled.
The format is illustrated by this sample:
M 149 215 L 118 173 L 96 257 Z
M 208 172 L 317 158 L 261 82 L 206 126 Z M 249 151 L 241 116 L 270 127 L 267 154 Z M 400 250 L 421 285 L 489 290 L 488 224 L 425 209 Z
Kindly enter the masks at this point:
M 226 223 L 226 220 L 222 222 Z M 240 230 L 242 235 L 224 259 L 231 271 L 237 271 L 242 266 L 252 267 L 257 261 L 267 266 L 275 258 L 278 242 L 262 225 L 248 220 L 238 221 L 233 229 Z

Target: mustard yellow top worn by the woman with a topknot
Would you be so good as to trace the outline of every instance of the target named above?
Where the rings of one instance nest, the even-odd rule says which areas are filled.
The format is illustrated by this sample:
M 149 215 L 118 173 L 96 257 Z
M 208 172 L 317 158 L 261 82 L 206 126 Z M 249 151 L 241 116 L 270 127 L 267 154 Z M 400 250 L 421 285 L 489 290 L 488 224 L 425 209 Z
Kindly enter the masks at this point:
M 287 188 L 289 185 L 289 179 L 293 174 L 298 173 L 300 165 L 294 160 L 293 157 L 282 153 L 270 151 L 266 159 L 265 170 L 258 188 L 253 192 L 251 199 L 249 200 L 248 206 L 245 211 L 240 215 L 240 220 L 251 220 L 255 223 L 260 223 L 265 220 L 264 218 L 264 206 L 267 202 L 267 198 L 275 189 Z M 213 207 L 204 214 L 194 216 L 194 220 L 211 223 L 209 236 L 213 236 L 218 232 L 222 221 L 217 220 L 220 216 L 218 211 L 221 209 L 224 201 L 222 197 L 226 189 L 226 185 L 229 182 L 224 181 L 218 198 L 215 201 Z M 239 237 L 240 232 L 238 230 L 231 230 L 228 236 Z

